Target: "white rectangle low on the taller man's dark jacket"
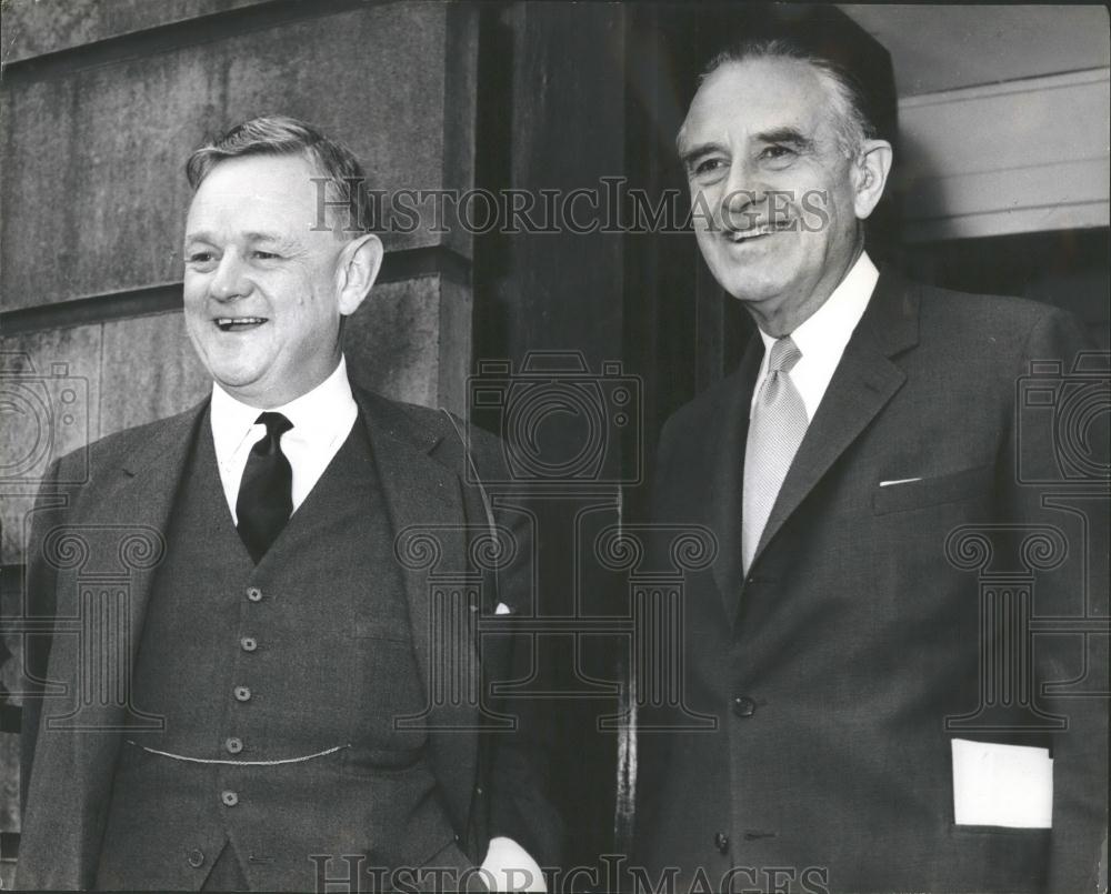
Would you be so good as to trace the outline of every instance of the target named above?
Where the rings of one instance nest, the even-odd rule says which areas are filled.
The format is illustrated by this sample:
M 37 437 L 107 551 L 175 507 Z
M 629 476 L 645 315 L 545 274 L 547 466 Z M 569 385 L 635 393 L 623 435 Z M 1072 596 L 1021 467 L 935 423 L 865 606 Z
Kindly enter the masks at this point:
M 957 825 L 1050 828 L 1053 759 L 1049 749 L 954 739 Z

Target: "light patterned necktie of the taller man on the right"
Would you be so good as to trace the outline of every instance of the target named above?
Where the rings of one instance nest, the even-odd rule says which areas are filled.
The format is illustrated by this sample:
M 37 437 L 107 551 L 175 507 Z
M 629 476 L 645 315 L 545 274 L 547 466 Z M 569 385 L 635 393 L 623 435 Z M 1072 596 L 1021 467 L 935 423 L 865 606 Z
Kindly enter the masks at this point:
M 807 433 L 807 406 L 789 374 L 801 358 L 802 352 L 790 335 L 778 339 L 771 346 L 768 374 L 752 406 L 744 448 L 741 516 L 741 559 L 745 572 L 752 564 L 787 470 Z

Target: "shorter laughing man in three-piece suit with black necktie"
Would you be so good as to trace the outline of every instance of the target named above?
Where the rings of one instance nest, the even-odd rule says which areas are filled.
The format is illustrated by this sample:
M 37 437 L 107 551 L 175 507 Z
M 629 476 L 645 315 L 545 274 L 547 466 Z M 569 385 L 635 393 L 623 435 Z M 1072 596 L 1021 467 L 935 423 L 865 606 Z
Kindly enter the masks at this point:
M 432 691 L 444 673 L 477 691 L 511 655 L 483 650 L 480 665 L 466 634 L 433 640 L 427 573 L 394 546 L 434 529 L 463 573 L 469 532 L 514 528 L 476 483 L 498 444 L 348 381 L 341 323 L 382 260 L 362 171 L 284 118 L 234 128 L 187 170 L 184 314 L 212 392 L 91 445 L 84 484 L 58 483 L 70 456 L 42 489 L 33 617 L 89 609 L 66 561 L 77 540 L 148 543 L 108 642 L 29 637 L 43 694 L 24 713 L 18 884 L 382 890 L 401 883 L 383 873 L 432 867 L 403 883 L 453 888 L 489 883 L 482 864 L 499 885 L 511 868 L 542 885 L 558 823 L 536 750 Z M 524 604 L 503 571 L 464 609 Z M 73 729 L 90 654 L 120 651 L 122 697 L 86 700 Z

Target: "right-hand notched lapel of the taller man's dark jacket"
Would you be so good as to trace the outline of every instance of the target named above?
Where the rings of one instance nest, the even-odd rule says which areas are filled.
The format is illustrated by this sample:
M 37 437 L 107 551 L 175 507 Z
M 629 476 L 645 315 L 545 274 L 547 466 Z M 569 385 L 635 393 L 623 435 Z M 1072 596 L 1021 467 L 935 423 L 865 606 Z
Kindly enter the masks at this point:
M 918 294 L 884 271 L 787 473 L 753 566 L 830 466 L 902 386 L 905 374 L 891 358 L 918 343 Z

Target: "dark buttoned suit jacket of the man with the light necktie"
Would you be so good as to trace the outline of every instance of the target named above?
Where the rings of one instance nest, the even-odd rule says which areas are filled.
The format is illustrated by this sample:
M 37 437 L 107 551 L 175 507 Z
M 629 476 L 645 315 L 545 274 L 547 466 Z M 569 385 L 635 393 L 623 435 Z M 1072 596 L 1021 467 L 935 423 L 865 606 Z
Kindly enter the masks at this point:
M 671 732 L 640 736 L 634 864 L 748 890 L 1093 890 L 1107 482 L 1060 459 L 1062 436 L 1093 454 L 1105 443 L 1078 448 L 1080 428 L 1059 424 L 1083 345 L 1052 308 L 884 271 L 748 574 L 760 339 L 669 420 L 652 522 L 709 529 L 718 555 L 685 579 L 685 704 L 642 712 Z M 1030 361 L 1063 364 L 1038 375 L 1048 401 L 1023 401 Z M 1042 624 L 1032 647 L 1023 616 Z M 1088 697 L 1041 689 L 1067 681 Z M 699 715 L 717 729 L 693 729 Z M 1052 830 L 958 825 L 953 739 L 1051 749 Z

